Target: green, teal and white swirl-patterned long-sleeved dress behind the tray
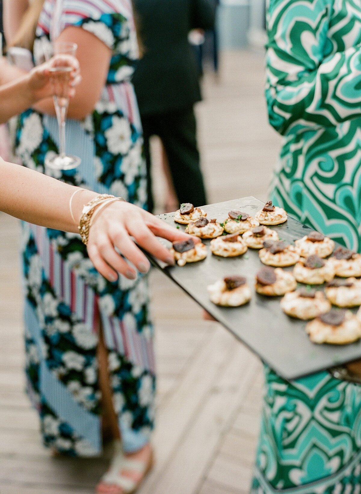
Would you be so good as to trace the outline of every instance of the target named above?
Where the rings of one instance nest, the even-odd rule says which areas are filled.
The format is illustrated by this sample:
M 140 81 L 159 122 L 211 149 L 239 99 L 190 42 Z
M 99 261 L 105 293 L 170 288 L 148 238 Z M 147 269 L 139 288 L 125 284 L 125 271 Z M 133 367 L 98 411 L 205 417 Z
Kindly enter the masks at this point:
M 270 199 L 361 250 L 361 1 L 270 0 L 266 99 L 284 138 Z M 252 494 L 359 494 L 361 387 L 265 370 Z

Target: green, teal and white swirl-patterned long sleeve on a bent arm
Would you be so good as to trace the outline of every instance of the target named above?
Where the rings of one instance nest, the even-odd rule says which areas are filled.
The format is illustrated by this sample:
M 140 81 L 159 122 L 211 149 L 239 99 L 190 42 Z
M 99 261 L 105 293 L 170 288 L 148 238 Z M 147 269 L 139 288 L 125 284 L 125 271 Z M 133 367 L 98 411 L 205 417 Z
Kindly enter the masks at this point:
M 361 117 L 361 45 L 333 53 L 331 0 L 269 0 L 268 118 L 282 135 Z

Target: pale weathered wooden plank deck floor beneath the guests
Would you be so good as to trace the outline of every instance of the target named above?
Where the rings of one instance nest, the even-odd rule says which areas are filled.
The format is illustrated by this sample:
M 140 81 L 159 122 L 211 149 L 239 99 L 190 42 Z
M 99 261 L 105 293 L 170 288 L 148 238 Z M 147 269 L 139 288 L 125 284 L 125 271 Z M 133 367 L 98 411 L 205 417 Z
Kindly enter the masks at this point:
M 266 197 L 279 139 L 268 127 L 263 59 L 222 59 L 221 82 L 205 81 L 199 137 L 210 201 Z M 157 181 L 158 197 L 162 182 Z M 0 494 L 90 494 L 106 468 L 52 458 L 39 440 L 24 388 L 17 221 L 0 215 Z M 197 305 L 152 273 L 158 361 L 156 465 L 139 494 L 244 494 L 256 446 L 260 362 Z M 164 303 L 166 300 L 166 303 Z

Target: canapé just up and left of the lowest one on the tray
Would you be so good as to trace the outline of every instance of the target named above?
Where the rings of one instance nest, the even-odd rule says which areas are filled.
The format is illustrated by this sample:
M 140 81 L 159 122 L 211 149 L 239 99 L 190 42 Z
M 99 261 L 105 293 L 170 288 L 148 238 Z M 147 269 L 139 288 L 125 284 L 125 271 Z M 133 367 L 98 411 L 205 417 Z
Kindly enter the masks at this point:
M 304 321 L 318 317 L 331 309 L 331 304 L 324 293 L 314 288 L 300 288 L 286 293 L 280 305 L 287 315 Z

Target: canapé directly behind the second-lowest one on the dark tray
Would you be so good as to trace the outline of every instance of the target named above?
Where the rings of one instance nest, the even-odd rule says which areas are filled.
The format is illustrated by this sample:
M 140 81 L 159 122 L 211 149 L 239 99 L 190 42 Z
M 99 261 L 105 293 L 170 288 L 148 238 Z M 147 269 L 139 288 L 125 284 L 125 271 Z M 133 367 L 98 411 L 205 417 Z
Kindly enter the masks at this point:
M 301 257 L 294 268 L 294 277 L 298 283 L 307 285 L 322 285 L 334 276 L 333 264 L 316 254 L 309 255 L 306 259 Z

